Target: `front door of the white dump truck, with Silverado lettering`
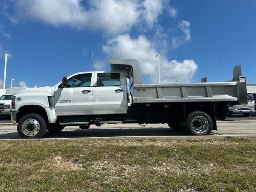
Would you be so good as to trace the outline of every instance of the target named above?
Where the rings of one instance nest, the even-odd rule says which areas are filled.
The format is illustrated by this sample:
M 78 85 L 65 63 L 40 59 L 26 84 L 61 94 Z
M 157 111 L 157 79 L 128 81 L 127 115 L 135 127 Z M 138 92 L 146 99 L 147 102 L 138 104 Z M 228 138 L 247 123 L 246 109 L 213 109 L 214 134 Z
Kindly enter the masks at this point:
M 58 115 L 92 114 L 92 79 L 94 73 L 75 74 L 66 88 L 56 88 L 55 110 Z

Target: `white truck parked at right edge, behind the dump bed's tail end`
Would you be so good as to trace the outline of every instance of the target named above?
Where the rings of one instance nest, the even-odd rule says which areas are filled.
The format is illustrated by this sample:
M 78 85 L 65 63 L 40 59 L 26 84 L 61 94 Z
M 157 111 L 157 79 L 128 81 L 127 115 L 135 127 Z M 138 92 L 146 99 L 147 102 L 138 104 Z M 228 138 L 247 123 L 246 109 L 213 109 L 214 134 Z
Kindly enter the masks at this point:
M 229 108 L 229 116 L 234 114 L 243 114 L 245 117 L 250 116 L 250 113 L 255 113 L 255 99 L 252 93 L 247 93 L 248 104 L 244 105 L 233 105 Z

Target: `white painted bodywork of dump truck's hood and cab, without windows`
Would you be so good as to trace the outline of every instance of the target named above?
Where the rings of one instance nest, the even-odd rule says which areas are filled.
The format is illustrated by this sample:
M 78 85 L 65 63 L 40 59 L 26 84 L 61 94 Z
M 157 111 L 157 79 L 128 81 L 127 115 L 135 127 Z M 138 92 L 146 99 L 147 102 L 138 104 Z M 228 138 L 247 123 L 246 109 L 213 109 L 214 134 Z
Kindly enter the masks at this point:
M 29 88 L 18 91 L 14 111 L 26 105 L 38 105 L 46 110 L 50 123 L 55 123 L 58 116 L 90 114 L 125 114 L 127 112 L 127 83 L 123 72 L 120 74 L 119 86 L 96 86 L 97 74 L 106 72 L 79 72 L 92 74 L 88 87 L 59 88 L 61 82 L 52 87 Z M 107 72 L 111 73 L 111 72 Z M 116 91 L 121 89 L 123 91 Z M 83 92 L 89 90 L 90 92 Z M 21 100 L 17 100 L 21 98 Z M 49 100 L 48 100 L 49 99 Z M 49 104 L 49 101 L 52 105 Z

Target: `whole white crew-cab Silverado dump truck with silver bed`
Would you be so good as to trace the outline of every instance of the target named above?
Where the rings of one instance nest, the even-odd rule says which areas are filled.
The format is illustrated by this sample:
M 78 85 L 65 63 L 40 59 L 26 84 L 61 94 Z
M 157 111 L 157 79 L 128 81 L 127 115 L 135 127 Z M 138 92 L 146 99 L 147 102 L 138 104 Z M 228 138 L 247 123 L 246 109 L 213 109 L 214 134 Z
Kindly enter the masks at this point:
M 110 72 L 79 72 L 51 87 L 12 97 L 12 122 L 22 138 L 42 138 L 65 126 L 168 123 L 206 135 L 229 107 L 247 104 L 246 78 L 236 66 L 231 82 L 144 84 L 137 60 L 110 60 Z

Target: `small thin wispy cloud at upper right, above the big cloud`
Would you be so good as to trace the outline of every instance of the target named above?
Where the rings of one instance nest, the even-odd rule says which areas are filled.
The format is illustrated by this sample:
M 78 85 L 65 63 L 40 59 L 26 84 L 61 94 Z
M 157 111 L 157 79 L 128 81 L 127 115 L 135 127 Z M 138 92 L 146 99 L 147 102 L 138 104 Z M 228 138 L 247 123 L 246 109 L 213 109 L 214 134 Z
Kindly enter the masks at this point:
M 183 35 L 179 37 L 172 38 L 172 48 L 176 48 L 185 42 L 190 42 L 191 34 L 190 34 L 190 22 L 188 21 L 180 21 L 178 24 L 178 28 L 182 31 Z

